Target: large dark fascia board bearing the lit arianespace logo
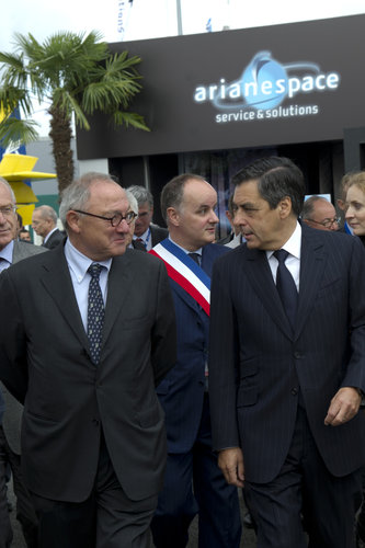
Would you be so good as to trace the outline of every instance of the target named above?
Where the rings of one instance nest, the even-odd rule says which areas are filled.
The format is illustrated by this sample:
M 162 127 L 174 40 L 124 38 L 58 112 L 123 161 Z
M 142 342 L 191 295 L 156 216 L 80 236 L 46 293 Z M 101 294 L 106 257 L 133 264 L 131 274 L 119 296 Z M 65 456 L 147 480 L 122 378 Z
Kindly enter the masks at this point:
M 95 116 L 80 159 L 341 140 L 365 126 L 365 15 L 111 44 L 142 61 L 132 110 L 149 133 Z

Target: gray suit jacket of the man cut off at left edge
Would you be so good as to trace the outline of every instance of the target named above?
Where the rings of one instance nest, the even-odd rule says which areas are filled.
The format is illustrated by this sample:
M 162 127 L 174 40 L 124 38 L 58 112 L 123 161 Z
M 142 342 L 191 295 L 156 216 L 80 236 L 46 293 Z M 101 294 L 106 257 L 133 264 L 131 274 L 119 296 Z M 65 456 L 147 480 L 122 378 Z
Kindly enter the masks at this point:
M 28 256 L 44 253 L 47 251 L 41 246 L 33 246 L 32 243 L 14 240 L 12 264 L 23 261 Z M 7 436 L 7 441 L 12 452 L 16 455 L 21 454 L 21 423 L 23 414 L 23 406 L 9 392 L 9 390 L 0 383 L 0 397 L 1 391 L 4 399 L 5 414 L 3 415 L 2 427 Z M 0 422 L 1 423 L 1 422 Z

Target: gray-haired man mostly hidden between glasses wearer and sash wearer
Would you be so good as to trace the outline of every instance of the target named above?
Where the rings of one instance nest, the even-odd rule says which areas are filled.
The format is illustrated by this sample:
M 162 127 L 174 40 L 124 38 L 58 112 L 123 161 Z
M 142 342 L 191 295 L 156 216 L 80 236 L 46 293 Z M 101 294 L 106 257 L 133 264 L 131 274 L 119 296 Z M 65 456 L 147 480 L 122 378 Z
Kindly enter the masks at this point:
M 135 221 L 135 232 L 132 244 L 135 249 L 149 251 L 160 241 L 164 240 L 169 232 L 166 228 L 152 224 L 153 196 L 145 187 L 139 185 L 127 189 L 137 199 L 138 217 Z

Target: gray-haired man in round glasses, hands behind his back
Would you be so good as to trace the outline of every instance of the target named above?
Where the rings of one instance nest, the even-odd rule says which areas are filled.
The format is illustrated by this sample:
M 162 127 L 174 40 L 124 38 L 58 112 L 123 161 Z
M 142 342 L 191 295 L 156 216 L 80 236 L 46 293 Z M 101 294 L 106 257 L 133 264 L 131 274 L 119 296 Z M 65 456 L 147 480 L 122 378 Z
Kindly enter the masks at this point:
M 155 386 L 175 361 L 167 273 L 125 252 L 134 214 L 109 175 L 67 187 L 60 215 L 65 246 L 0 276 L 0 378 L 25 401 L 39 546 L 147 547 L 166 464 Z

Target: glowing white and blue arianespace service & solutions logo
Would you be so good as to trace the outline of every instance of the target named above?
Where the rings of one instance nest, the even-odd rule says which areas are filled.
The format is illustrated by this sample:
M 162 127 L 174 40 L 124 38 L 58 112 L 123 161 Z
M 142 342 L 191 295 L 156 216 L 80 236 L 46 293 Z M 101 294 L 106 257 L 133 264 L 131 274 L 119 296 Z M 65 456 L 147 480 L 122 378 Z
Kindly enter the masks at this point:
M 312 116 L 319 114 L 319 105 L 300 105 L 300 95 L 333 92 L 340 85 L 338 72 L 323 72 L 315 62 L 290 62 L 282 65 L 270 52 L 256 54 L 242 76 L 227 82 L 199 85 L 194 91 L 194 101 L 209 101 L 220 114 L 217 123 L 252 119 Z

